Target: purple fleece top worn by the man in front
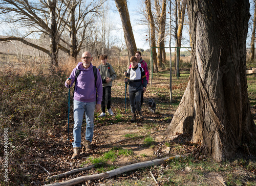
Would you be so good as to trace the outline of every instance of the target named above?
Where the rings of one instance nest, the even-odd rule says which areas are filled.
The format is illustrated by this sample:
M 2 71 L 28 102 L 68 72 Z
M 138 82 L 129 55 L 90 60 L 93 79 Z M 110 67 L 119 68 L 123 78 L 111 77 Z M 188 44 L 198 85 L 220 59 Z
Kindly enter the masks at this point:
M 83 68 L 82 62 L 79 62 L 76 68 L 70 74 L 72 79 L 71 86 L 75 82 L 76 69 L 80 70 L 80 74 L 76 79 L 74 99 L 82 102 L 93 102 L 96 100 L 96 88 L 97 88 L 97 103 L 101 104 L 102 101 L 102 80 L 100 77 L 99 70 L 97 69 L 97 82 L 96 87 L 94 83 L 93 65 L 91 64 L 88 69 Z M 65 86 L 68 88 L 69 85 L 65 82 Z M 70 87 L 71 87 L 70 86 Z

